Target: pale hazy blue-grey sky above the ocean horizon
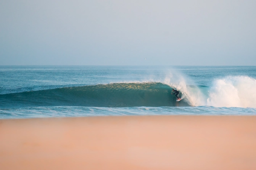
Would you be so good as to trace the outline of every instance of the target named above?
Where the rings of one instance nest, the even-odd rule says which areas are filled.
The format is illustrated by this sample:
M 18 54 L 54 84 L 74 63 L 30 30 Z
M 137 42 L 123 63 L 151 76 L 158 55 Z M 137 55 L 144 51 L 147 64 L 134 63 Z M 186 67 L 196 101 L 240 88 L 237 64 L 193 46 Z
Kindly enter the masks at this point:
M 256 65 L 256 0 L 1 0 L 0 65 Z

